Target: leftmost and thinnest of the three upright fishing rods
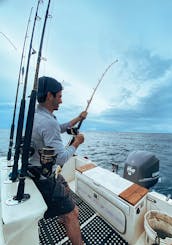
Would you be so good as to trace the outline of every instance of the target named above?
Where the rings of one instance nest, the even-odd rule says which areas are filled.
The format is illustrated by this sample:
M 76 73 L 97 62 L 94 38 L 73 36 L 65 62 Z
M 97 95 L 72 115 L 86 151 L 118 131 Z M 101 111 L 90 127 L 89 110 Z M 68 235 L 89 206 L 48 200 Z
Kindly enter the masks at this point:
M 23 70 L 23 60 L 24 60 L 25 46 L 26 46 L 26 40 L 27 40 L 27 37 L 28 37 L 29 23 L 31 21 L 32 10 L 33 10 L 33 8 L 31 8 L 29 19 L 28 19 L 28 22 L 27 22 L 26 33 L 25 33 L 25 37 L 24 37 L 24 43 L 23 43 L 23 49 L 22 49 L 22 55 L 21 55 L 21 61 L 20 61 L 20 67 L 19 67 L 17 90 L 16 90 L 14 110 L 13 110 L 13 119 L 12 119 L 12 123 L 11 123 L 9 147 L 8 147 L 8 153 L 7 153 L 7 160 L 8 161 L 11 160 L 11 155 L 12 155 L 14 129 L 15 129 L 15 116 L 16 116 L 16 108 L 17 108 L 17 100 L 18 100 L 19 86 L 20 86 L 20 77 L 21 77 L 21 74 L 24 75 L 23 74 L 24 73 L 24 70 Z

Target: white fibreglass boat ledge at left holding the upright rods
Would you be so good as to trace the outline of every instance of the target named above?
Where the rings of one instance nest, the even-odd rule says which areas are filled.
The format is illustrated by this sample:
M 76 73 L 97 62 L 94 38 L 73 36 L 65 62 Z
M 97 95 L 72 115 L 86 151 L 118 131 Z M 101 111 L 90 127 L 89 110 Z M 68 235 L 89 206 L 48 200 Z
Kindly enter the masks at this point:
M 30 198 L 17 205 L 7 205 L 6 201 L 17 193 L 18 183 L 5 183 L 9 170 L 1 171 L 1 221 L 5 244 L 38 245 L 38 221 L 43 217 L 47 206 L 33 180 L 25 179 L 25 193 Z

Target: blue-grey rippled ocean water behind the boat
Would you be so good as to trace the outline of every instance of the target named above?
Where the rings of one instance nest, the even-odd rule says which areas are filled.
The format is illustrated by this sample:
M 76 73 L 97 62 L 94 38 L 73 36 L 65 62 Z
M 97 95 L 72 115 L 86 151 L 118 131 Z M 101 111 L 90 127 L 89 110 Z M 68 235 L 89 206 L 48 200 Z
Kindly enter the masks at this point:
M 119 165 L 123 175 L 124 163 L 128 154 L 135 150 L 146 150 L 160 160 L 160 179 L 153 187 L 162 194 L 172 195 L 172 134 L 84 132 L 85 142 L 77 154 L 88 157 L 97 165 L 112 169 L 112 163 Z M 70 139 L 64 135 L 66 144 Z M 0 155 L 6 156 L 9 144 L 9 130 L 0 130 Z

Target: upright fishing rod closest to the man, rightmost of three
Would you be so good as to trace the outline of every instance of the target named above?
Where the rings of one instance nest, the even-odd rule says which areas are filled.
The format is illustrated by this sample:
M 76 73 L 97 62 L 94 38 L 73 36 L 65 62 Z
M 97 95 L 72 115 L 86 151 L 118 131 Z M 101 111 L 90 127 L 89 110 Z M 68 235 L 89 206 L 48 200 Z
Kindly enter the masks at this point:
M 25 177 L 27 175 L 27 166 L 28 166 L 29 151 L 30 151 L 30 145 L 31 145 L 33 120 L 34 120 L 35 104 L 36 104 L 36 94 L 37 94 L 37 87 L 38 87 L 38 74 L 39 74 L 40 62 L 41 62 L 41 57 L 42 57 L 42 47 L 43 47 L 43 40 L 44 40 L 44 34 L 45 34 L 45 27 L 46 27 L 47 19 L 49 16 L 48 13 L 49 13 L 50 2 L 51 0 L 48 1 L 47 10 L 45 14 L 42 35 L 41 35 L 41 40 L 40 40 L 40 47 L 39 47 L 38 58 L 37 58 L 37 64 L 36 64 L 36 72 L 35 72 L 33 90 L 30 96 L 30 103 L 29 103 L 25 136 L 24 136 L 24 144 L 23 144 L 22 166 L 21 166 L 21 172 L 19 175 L 17 195 L 16 197 L 14 197 L 14 199 L 17 200 L 18 202 L 25 201 L 28 198 L 30 198 L 29 194 L 24 194 Z

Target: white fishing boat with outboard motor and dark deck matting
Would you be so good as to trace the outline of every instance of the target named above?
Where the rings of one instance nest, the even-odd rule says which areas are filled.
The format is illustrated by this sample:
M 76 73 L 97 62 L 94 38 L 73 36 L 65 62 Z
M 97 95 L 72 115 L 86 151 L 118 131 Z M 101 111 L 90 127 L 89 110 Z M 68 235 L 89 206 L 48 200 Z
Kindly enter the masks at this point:
M 46 204 L 29 177 L 25 193 L 30 198 L 11 205 L 18 186 L 8 181 L 11 163 L 1 157 L 0 244 L 71 244 L 58 217 L 44 219 Z M 85 244 L 172 244 L 172 199 L 149 190 L 158 180 L 158 166 L 146 151 L 129 154 L 123 176 L 82 156 L 64 164 L 61 174 L 79 207 Z

